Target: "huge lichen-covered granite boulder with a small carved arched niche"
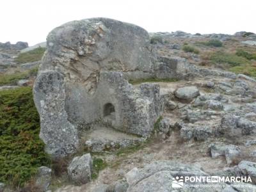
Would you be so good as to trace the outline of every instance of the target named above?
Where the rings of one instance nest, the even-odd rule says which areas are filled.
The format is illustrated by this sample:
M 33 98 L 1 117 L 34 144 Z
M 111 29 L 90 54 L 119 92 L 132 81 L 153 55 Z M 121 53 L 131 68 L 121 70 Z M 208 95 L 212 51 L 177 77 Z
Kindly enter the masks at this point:
M 117 20 L 68 22 L 47 36 L 34 85 L 40 138 L 53 156 L 76 151 L 95 122 L 147 137 L 162 108 L 159 85 L 129 79 L 154 76 L 149 36 Z

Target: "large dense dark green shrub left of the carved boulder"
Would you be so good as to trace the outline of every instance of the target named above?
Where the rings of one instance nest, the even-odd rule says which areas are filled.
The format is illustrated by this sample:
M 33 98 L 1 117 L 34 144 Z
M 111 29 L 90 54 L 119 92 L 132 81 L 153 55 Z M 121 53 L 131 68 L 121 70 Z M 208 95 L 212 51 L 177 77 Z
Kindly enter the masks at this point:
M 49 164 L 38 134 L 40 120 L 29 87 L 0 92 L 0 180 L 23 186 Z

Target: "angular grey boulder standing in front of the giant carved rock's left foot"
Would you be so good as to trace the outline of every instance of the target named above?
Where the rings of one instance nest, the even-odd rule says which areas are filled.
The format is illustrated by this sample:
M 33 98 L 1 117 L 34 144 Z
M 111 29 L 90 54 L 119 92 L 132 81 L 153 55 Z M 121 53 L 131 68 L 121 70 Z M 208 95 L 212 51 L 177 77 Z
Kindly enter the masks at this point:
M 68 165 L 68 176 L 76 184 L 86 184 L 92 180 L 92 156 L 85 154 L 74 157 Z

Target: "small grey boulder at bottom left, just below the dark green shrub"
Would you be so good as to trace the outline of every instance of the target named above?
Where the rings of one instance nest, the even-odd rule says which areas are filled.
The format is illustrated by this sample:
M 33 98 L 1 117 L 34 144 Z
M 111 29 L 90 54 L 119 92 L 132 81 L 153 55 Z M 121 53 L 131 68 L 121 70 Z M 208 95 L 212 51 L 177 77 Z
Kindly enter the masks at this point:
M 38 173 L 36 176 L 36 185 L 47 191 L 49 185 L 51 184 L 52 170 L 46 166 L 41 166 L 38 168 Z

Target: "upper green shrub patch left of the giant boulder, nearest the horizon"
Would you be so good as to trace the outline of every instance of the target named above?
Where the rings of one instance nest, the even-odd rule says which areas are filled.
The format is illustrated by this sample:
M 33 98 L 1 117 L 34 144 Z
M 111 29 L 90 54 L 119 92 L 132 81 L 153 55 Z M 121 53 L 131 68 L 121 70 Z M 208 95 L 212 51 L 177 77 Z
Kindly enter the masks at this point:
M 34 61 L 40 61 L 42 59 L 42 56 L 44 55 L 44 52 L 45 52 L 45 48 L 38 47 L 31 51 L 20 53 L 17 56 L 17 58 L 15 58 L 15 61 L 17 63 L 29 63 Z

